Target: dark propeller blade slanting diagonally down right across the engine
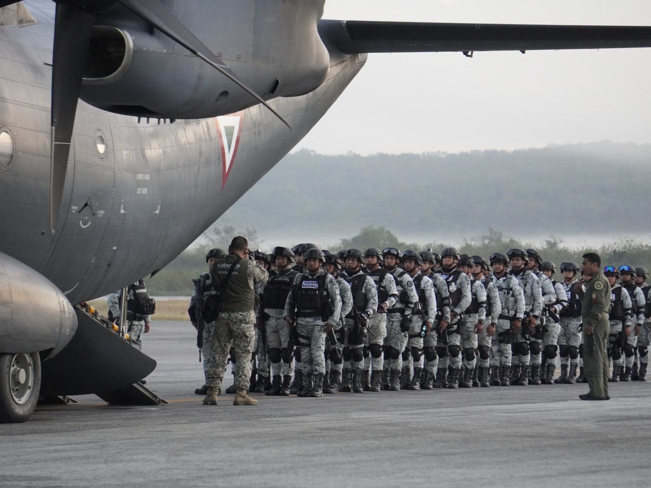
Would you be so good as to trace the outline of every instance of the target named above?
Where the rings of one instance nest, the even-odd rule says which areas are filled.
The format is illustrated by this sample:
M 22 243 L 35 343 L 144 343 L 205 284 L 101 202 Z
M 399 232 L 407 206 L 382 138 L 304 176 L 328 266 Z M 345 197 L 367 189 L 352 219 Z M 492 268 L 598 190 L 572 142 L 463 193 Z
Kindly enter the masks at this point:
M 193 53 L 193 55 L 199 57 L 203 61 L 207 62 L 219 71 L 221 74 L 225 75 L 230 81 L 236 83 L 240 88 L 245 90 L 253 96 L 258 102 L 262 103 L 273 115 L 277 116 L 283 124 L 285 124 L 292 131 L 292 126 L 290 126 L 283 117 L 279 115 L 274 109 L 271 108 L 262 97 L 251 88 L 244 85 L 244 83 L 238 78 L 232 70 L 226 66 L 221 59 L 210 51 L 208 48 L 195 34 L 191 33 L 189 29 L 180 21 L 170 10 L 165 7 L 165 5 L 160 0 L 117 0 L 118 3 L 122 4 L 124 7 L 131 10 L 134 14 L 139 16 L 141 19 L 151 23 L 161 31 L 163 34 L 171 38 L 172 40 L 178 42 L 181 46 L 185 47 L 188 51 Z

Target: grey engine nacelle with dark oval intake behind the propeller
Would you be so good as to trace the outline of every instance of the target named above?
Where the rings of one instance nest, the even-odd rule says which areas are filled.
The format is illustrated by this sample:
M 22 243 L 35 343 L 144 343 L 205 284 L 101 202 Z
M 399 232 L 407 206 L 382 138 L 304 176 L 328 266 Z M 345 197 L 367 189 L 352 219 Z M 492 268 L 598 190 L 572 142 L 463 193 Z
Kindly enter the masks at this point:
M 265 100 L 303 95 L 326 80 L 330 58 L 316 27 L 323 0 L 183 5 L 180 20 Z M 111 10 L 98 22 L 107 25 L 94 28 L 80 94 L 90 105 L 124 115 L 209 118 L 258 103 L 156 29 Z

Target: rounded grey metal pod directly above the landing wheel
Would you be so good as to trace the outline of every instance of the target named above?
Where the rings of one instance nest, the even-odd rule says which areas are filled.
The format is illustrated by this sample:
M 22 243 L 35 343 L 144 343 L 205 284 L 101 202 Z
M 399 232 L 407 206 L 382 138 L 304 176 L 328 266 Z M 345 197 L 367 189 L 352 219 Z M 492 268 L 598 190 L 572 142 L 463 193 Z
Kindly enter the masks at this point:
M 0 252 L 0 353 L 66 347 L 77 331 L 77 315 L 48 278 Z

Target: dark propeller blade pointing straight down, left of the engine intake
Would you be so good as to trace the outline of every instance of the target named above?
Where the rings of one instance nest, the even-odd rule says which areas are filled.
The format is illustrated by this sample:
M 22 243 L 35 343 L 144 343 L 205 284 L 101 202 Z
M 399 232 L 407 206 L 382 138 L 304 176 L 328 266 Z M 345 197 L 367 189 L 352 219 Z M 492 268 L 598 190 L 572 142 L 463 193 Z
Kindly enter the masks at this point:
M 66 181 L 72 128 L 81 77 L 95 18 L 68 3 L 57 3 L 52 57 L 49 223 L 54 234 Z

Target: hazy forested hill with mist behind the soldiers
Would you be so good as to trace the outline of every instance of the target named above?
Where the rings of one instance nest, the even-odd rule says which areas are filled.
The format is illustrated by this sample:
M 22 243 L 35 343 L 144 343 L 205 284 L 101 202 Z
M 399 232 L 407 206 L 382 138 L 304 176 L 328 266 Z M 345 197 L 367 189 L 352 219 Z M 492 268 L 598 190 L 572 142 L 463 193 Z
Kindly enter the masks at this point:
M 411 234 L 418 225 L 447 235 L 487 228 L 519 235 L 648 232 L 650 187 L 649 144 L 374 156 L 301 151 L 218 224 L 248 226 L 260 236 L 288 225 L 308 236 L 326 228 L 333 241 L 363 225 Z

